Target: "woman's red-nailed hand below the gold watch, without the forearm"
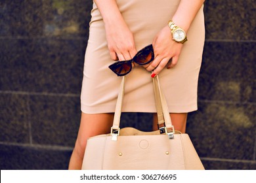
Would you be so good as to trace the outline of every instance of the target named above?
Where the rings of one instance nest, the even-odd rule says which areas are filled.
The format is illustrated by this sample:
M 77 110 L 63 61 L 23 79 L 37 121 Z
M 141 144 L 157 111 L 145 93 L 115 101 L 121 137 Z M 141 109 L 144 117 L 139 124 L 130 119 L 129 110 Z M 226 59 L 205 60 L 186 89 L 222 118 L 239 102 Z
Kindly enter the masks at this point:
M 182 43 L 173 40 L 168 25 L 163 27 L 152 42 L 155 59 L 146 65 L 147 71 L 152 71 L 152 77 L 158 75 L 167 66 L 167 69 L 174 67 L 181 54 Z M 170 61 L 171 60 L 171 61 Z

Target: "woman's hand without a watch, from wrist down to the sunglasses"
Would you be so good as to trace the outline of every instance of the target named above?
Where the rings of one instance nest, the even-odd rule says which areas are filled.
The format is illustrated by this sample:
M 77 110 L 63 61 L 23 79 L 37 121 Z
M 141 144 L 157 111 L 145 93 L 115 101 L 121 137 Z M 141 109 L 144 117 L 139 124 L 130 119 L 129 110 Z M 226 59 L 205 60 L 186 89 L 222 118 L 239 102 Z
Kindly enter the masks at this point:
M 108 50 L 113 60 L 129 60 L 137 54 L 133 33 L 124 20 L 105 23 L 105 29 Z

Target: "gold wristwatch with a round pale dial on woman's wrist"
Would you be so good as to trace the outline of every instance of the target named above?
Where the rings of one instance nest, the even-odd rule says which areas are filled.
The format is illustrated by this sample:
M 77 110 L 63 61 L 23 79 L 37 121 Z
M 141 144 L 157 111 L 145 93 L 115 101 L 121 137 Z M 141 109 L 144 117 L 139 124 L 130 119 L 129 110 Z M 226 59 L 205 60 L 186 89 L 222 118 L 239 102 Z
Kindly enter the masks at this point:
M 188 39 L 186 38 L 186 33 L 181 27 L 174 24 L 172 20 L 168 22 L 168 25 L 171 29 L 171 34 L 173 35 L 173 40 L 176 42 L 181 42 L 182 44 Z

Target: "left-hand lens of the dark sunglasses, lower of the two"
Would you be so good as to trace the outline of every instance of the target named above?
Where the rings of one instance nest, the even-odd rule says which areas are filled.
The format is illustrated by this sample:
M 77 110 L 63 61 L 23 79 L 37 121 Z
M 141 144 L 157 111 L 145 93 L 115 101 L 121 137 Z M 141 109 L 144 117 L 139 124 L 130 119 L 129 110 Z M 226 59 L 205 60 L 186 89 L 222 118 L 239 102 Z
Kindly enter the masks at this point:
M 124 76 L 130 73 L 132 65 L 131 62 L 118 61 L 110 65 L 109 68 L 116 73 L 117 76 Z

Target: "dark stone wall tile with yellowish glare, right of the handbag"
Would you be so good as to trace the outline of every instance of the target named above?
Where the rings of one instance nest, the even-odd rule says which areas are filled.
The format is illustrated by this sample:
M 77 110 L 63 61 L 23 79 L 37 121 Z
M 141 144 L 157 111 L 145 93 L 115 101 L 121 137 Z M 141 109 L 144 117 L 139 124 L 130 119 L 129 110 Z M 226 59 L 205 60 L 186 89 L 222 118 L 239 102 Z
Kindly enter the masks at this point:
M 254 160 L 255 105 L 199 103 L 187 133 L 202 158 Z

